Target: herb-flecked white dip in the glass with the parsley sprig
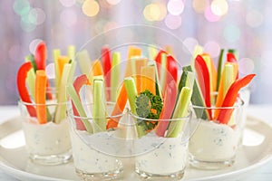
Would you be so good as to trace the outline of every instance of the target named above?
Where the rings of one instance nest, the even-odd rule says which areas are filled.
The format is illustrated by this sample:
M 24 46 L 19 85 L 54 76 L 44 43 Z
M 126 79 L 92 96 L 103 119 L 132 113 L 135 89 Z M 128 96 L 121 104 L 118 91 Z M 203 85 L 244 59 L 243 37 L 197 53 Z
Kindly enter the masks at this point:
M 154 133 L 149 133 L 140 138 L 141 140 L 149 150 L 135 157 L 135 165 L 139 171 L 149 174 L 170 175 L 184 170 L 188 156 L 188 140 L 181 138 L 181 136 L 178 138 L 160 138 Z M 151 148 L 152 145 L 153 148 Z M 136 146 L 139 146 L 139 144 Z

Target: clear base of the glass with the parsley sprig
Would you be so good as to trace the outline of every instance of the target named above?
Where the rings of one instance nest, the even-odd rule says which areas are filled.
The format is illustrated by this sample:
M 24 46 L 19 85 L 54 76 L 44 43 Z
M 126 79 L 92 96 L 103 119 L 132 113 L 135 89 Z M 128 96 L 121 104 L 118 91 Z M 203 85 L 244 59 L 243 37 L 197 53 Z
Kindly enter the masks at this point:
M 151 174 L 136 167 L 135 172 L 144 180 L 180 180 L 184 176 L 184 170 L 168 175 Z

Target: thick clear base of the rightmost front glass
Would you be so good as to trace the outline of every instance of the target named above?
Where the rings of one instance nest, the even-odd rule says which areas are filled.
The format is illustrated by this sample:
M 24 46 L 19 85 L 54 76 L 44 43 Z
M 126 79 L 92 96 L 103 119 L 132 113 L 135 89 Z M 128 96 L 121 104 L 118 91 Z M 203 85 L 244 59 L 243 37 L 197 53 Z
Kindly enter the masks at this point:
M 199 169 L 221 169 L 225 167 L 231 167 L 235 162 L 235 157 L 232 157 L 224 161 L 203 161 L 199 160 L 196 157 L 189 155 L 189 164 L 192 167 L 197 167 Z

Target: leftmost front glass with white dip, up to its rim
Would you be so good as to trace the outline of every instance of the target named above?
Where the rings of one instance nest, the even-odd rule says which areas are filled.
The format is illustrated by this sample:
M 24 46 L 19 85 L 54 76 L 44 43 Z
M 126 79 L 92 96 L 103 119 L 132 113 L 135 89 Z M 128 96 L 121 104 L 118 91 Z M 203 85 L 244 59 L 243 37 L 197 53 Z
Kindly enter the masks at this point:
M 18 101 L 23 119 L 25 148 L 34 163 L 59 165 L 72 158 L 69 124 L 64 112 L 57 116 L 58 110 L 66 108 L 67 102 L 46 100 L 45 103 Z M 29 111 L 33 109 L 35 115 Z M 39 116 L 38 116 L 39 115 Z

